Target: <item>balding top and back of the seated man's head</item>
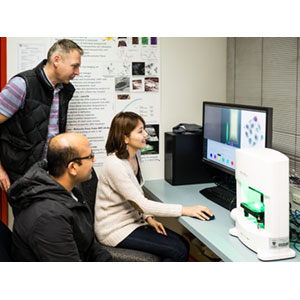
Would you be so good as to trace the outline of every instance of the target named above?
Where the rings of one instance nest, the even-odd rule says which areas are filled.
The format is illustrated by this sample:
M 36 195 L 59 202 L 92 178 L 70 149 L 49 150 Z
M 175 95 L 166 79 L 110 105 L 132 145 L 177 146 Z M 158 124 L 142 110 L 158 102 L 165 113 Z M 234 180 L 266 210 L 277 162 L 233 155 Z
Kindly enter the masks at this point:
M 81 157 L 81 149 L 84 146 L 89 146 L 89 140 L 81 133 L 67 132 L 53 137 L 47 153 L 49 174 L 54 177 L 63 175 L 68 162 Z

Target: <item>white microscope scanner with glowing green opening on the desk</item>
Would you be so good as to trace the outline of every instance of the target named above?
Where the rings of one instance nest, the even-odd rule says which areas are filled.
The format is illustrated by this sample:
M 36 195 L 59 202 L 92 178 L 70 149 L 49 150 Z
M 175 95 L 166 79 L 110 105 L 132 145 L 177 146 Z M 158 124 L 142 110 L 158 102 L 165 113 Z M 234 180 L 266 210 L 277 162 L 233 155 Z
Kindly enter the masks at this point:
M 236 150 L 237 207 L 229 233 L 260 260 L 296 255 L 289 247 L 289 159 L 269 148 Z

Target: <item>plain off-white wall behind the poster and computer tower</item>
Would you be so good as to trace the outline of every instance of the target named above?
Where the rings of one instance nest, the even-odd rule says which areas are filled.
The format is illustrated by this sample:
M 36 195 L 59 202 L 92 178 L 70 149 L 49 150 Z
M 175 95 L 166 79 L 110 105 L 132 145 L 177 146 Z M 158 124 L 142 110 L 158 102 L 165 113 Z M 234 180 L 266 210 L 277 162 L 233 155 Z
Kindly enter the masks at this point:
M 47 38 L 42 39 L 47 43 Z M 7 78 L 16 74 L 16 43 L 40 40 L 8 38 Z M 226 38 L 161 38 L 160 42 L 161 159 L 143 163 L 146 180 L 164 178 L 165 131 L 182 122 L 202 124 L 203 100 L 226 102 Z M 11 214 L 9 222 L 11 226 Z

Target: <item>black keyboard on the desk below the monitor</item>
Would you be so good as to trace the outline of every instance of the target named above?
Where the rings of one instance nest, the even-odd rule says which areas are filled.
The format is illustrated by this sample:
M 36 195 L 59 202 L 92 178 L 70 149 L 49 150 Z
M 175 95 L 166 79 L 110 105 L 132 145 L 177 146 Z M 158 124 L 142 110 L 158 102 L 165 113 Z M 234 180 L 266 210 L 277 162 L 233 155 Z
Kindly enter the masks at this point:
M 236 194 L 222 186 L 215 186 L 199 191 L 207 199 L 221 205 L 222 207 L 232 210 L 236 207 Z

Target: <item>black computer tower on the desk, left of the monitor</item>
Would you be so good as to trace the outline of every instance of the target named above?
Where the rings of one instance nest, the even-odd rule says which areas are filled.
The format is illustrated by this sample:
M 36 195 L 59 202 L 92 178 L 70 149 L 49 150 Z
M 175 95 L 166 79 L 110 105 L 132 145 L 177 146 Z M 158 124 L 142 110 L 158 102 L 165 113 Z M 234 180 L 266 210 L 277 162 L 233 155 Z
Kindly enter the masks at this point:
M 212 182 L 202 162 L 202 133 L 165 132 L 165 180 L 172 185 Z

